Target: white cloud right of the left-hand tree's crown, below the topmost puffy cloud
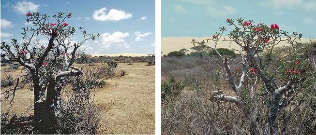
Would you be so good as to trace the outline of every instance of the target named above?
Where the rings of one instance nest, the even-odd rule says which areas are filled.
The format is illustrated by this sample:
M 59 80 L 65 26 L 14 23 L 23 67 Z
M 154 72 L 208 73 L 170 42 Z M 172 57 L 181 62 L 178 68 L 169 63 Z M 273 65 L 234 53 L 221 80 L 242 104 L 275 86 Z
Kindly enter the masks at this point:
M 113 44 L 121 45 L 121 46 L 128 46 L 125 41 L 125 38 L 128 37 L 130 34 L 128 32 L 120 32 L 116 31 L 114 33 L 103 33 L 101 34 L 101 42 L 103 48 L 110 48 Z

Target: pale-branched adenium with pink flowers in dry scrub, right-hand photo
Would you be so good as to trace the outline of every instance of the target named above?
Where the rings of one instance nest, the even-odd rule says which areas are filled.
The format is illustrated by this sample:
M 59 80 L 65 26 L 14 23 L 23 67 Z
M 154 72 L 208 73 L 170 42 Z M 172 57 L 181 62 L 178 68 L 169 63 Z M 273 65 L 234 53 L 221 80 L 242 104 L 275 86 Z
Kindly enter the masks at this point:
M 193 45 L 198 44 L 213 49 L 217 55 L 223 58 L 226 81 L 235 93 L 235 96 L 231 96 L 224 94 L 224 90 L 218 90 L 211 94 L 210 99 L 236 103 L 239 108 L 243 108 L 247 102 L 253 101 L 247 100 L 248 96 L 242 95 L 246 91 L 250 90 L 250 98 L 265 96 L 268 100 L 269 112 L 267 134 L 278 134 L 278 114 L 290 104 L 291 101 L 288 101 L 288 97 L 304 91 L 306 86 L 310 86 L 315 81 L 316 66 L 312 65 L 312 59 L 301 57 L 301 54 L 297 53 L 301 48 L 296 47 L 296 40 L 300 40 L 303 34 L 297 32 L 289 34 L 280 29 L 277 24 L 255 24 L 252 20 L 242 18 L 226 19 L 226 23 L 233 27 L 227 37 L 223 36 L 226 27 L 220 27 L 220 31 L 212 35 L 210 39 L 192 40 Z M 234 51 L 240 54 L 242 61 L 222 56 L 216 50 L 220 40 L 226 41 L 229 47 L 230 42 L 236 43 L 240 49 L 235 48 Z M 271 53 L 281 41 L 287 42 L 290 46 L 289 55 L 284 56 L 278 65 L 273 65 L 271 62 L 275 59 Z M 213 45 L 207 45 L 207 42 L 212 42 Z M 266 55 L 263 56 L 260 54 L 261 52 L 266 52 Z M 229 61 L 240 66 L 231 69 Z M 233 79 L 234 71 L 240 76 L 238 83 Z M 256 127 L 250 129 L 253 130 L 250 133 L 256 133 Z

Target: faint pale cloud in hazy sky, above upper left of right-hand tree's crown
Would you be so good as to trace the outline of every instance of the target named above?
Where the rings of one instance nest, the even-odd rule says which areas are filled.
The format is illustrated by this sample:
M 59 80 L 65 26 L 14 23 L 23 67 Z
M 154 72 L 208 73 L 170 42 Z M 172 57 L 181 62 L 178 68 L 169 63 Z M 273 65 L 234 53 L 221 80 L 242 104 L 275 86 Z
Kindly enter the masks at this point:
M 209 13 L 213 17 L 221 17 L 221 16 L 235 14 L 237 10 L 233 8 L 232 6 L 224 5 L 222 8 L 208 7 L 206 9 L 206 12 Z

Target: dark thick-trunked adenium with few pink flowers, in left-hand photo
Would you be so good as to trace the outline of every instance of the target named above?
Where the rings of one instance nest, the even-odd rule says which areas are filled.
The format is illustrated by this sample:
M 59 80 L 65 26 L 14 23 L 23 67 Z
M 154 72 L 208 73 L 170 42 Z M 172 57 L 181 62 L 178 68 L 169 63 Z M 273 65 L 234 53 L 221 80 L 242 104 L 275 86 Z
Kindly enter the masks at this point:
M 62 117 L 60 91 L 71 77 L 83 74 L 79 67 L 73 66 L 75 59 L 83 51 L 79 47 L 85 41 L 99 37 L 99 34 L 88 34 L 79 27 L 83 40 L 72 44 L 70 39 L 76 28 L 67 23 L 71 17 L 72 13 L 48 16 L 29 12 L 26 14 L 26 21 L 32 27 L 22 27 L 22 40 L 12 39 L 10 43 L 1 43 L 1 58 L 25 67 L 27 74 L 22 76 L 30 76 L 32 80 L 34 119 L 36 128 L 42 134 L 54 134 L 58 120 Z M 41 43 L 39 38 L 47 39 L 48 43 Z M 16 86 L 20 77 L 17 78 Z M 13 100 L 15 90 L 16 87 L 7 90 L 6 98 L 13 96 Z

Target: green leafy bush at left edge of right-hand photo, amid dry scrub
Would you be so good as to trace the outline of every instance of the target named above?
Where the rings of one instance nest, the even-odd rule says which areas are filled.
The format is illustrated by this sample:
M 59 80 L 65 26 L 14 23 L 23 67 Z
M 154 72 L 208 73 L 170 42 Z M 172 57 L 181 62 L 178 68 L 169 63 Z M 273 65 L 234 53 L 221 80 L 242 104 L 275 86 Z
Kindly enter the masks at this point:
M 173 77 L 169 81 L 164 82 L 161 85 L 161 101 L 164 103 L 165 100 L 176 98 L 181 94 L 184 89 L 184 84 L 177 82 Z

